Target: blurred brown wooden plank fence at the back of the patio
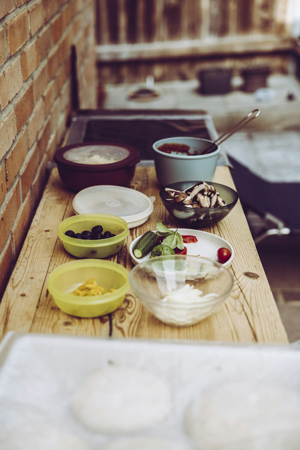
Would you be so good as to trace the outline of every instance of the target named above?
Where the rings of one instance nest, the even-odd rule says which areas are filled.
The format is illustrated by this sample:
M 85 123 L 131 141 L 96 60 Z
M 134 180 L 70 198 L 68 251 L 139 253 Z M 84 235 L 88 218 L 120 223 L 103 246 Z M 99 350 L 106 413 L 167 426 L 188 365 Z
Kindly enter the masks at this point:
M 286 50 L 291 1 L 96 0 L 99 77 L 139 81 L 162 61 L 172 66 L 181 59 L 182 72 L 184 59 Z M 182 77 L 163 72 L 160 79 Z

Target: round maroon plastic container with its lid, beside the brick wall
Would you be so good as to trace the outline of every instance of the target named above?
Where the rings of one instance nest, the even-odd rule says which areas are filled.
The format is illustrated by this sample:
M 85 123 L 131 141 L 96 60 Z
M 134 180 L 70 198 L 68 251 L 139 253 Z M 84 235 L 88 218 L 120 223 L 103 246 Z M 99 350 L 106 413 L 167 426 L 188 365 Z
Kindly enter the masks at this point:
M 128 186 L 140 157 L 133 145 L 85 142 L 58 148 L 54 161 L 63 183 L 78 192 L 99 184 Z

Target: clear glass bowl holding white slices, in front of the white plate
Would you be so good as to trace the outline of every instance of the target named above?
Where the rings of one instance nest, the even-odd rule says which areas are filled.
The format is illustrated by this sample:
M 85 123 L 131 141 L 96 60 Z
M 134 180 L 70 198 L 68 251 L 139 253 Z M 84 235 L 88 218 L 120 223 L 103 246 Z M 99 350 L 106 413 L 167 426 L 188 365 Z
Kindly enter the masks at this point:
M 232 290 L 233 276 L 222 264 L 205 258 L 166 255 L 137 264 L 130 271 L 129 283 L 157 319 L 185 326 L 205 319 L 224 302 Z

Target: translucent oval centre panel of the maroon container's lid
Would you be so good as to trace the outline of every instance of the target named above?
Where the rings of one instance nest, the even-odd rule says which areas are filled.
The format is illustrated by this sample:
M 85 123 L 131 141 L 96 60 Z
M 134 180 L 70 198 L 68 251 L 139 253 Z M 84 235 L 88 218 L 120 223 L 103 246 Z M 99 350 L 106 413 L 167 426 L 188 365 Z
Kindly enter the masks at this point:
M 77 164 L 112 164 L 113 162 L 123 161 L 129 157 L 130 152 L 125 147 L 117 145 L 83 145 L 75 147 L 63 153 L 67 161 Z

